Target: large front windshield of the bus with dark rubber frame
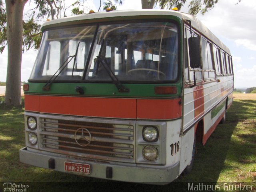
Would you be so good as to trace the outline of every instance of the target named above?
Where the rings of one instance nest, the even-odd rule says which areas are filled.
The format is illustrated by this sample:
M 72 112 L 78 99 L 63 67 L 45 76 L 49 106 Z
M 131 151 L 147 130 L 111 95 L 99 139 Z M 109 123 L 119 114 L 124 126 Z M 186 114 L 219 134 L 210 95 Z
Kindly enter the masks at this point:
M 30 81 L 47 81 L 58 70 L 56 81 L 110 82 L 109 71 L 122 82 L 175 81 L 178 28 L 141 22 L 48 30 Z

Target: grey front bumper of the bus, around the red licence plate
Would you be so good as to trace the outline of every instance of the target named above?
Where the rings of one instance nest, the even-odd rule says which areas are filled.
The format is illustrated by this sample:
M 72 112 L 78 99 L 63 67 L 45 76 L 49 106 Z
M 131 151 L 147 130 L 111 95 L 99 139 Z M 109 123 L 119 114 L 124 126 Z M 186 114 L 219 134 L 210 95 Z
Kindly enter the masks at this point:
M 142 182 L 149 184 L 168 184 L 176 179 L 179 175 L 179 162 L 167 168 L 148 168 L 140 166 L 117 165 L 102 162 L 78 160 L 74 157 L 67 157 L 65 155 L 58 156 L 54 153 L 42 154 L 38 152 L 31 152 L 27 147 L 20 149 L 20 162 L 33 165 L 36 167 L 51 169 L 49 160 L 54 161 L 54 168 L 52 170 L 60 172 L 68 172 L 64 168 L 64 162 L 74 162 L 82 164 L 90 164 L 91 173 L 84 174 L 81 172 L 68 172 L 80 176 L 89 176 L 94 178 L 110 179 L 125 182 Z M 111 170 L 111 173 L 109 173 Z M 111 175 L 111 178 L 110 176 Z

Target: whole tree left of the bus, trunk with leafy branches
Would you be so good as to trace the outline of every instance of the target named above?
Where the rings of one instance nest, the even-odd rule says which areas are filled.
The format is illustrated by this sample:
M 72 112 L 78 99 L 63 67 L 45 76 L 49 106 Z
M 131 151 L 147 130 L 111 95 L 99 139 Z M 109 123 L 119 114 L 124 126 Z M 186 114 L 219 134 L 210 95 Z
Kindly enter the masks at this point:
M 35 12 L 27 21 L 23 21 L 23 10 L 28 0 L 6 0 L 4 9 L 3 2 L 0 0 L 0 51 L 4 50 L 6 42 L 8 45 L 8 64 L 6 75 L 6 105 L 21 105 L 21 61 L 22 51 L 31 47 L 38 48 L 40 44 L 39 24 L 34 22 Z M 40 10 L 37 18 L 46 15 L 58 18 L 61 0 L 35 0 L 36 8 Z M 24 38 L 23 38 L 24 37 Z M 8 40 L 8 41 L 7 41 Z

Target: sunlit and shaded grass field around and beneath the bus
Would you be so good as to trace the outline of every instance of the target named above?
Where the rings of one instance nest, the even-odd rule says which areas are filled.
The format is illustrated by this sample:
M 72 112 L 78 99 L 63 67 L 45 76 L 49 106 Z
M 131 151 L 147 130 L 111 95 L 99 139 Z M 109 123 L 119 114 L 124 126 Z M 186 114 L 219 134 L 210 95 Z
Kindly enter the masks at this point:
M 0 97 L 0 101 L 4 98 Z M 36 168 L 19 162 L 25 146 L 23 108 L 0 105 L 0 182 L 86 182 L 87 191 L 182 191 L 182 182 L 256 182 L 256 100 L 233 101 L 227 121 L 205 146 L 198 146 L 193 170 L 166 186 L 108 182 Z M 177 184 L 177 182 L 179 182 Z M 255 184 L 255 183 L 254 183 Z M 80 184 L 38 183 L 32 191 L 79 191 Z M 1 192 L 0 186 L 0 192 Z M 186 190 L 184 190 L 186 191 Z M 254 186 L 255 191 L 255 186 Z

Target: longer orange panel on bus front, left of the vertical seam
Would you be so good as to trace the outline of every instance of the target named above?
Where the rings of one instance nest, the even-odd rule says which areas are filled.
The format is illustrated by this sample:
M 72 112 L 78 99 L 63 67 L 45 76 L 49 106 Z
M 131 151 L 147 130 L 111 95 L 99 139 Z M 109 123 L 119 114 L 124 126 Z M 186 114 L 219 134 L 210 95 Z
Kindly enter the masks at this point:
M 26 111 L 86 117 L 136 119 L 136 99 L 27 96 L 25 97 L 25 99 L 28 99 L 28 102 L 26 102 L 28 105 L 25 105 Z M 33 97 L 39 97 L 37 103 L 32 104 L 31 98 Z M 35 107 L 33 108 L 33 106 Z

